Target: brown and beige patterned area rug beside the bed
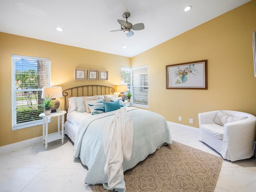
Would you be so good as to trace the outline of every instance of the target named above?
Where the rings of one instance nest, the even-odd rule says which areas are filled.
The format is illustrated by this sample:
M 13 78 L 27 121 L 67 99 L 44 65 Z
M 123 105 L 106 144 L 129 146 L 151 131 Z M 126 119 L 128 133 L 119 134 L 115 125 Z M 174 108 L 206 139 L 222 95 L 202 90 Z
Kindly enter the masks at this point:
M 223 159 L 172 141 L 124 172 L 127 192 L 214 192 Z M 109 192 L 102 184 L 93 192 Z

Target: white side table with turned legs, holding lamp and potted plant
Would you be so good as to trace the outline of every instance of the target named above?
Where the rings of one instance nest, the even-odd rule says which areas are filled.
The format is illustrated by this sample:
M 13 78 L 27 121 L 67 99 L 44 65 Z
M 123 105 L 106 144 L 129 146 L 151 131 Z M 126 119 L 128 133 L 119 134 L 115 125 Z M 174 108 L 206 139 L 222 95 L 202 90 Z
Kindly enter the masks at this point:
M 66 111 L 55 112 L 55 113 L 51 113 L 50 115 L 45 115 L 44 113 L 41 113 L 39 115 L 40 117 L 43 118 L 43 144 L 45 144 L 45 150 L 47 150 L 48 143 L 51 141 L 61 139 L 61 142 L 63 144 L 63 141 L 64 141 L 64 114 L 66 114 Z M 56 116 L 58 116 L 58 132 L 48 136 L 48 118 L 56 117 Z M 62 116 L 61 134 L 60 134 L 60 116 Z

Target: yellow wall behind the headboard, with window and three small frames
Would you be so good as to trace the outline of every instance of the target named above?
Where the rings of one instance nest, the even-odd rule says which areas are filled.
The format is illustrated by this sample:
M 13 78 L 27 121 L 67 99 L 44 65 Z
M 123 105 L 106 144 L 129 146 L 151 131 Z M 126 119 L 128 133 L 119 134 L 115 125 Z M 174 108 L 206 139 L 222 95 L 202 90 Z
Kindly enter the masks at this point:
M 0 32 L 0 146 L 42 136 L 42 126 L 12 130 L 12 54 L 51 59 L 51 86 L 62 90 L 74 86 L 120 84 L 121 66 L 130 67 L 131 58 L 56 44 Z M 107 70 L 106 81 L 74 80 L 74 68 Z M 64 98 L 58 99 L 64 108 Z M 52 118 L 49 133 L 56 132 L 57 118 Z

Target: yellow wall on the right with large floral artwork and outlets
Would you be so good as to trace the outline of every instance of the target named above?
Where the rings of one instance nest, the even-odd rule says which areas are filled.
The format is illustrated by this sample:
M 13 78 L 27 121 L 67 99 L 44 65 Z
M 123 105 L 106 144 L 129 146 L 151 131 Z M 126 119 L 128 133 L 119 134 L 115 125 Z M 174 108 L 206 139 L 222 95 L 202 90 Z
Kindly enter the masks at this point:
M 256 0 L 133 57 L 132 67 L 149 67 L 149 110 L 194 127 L 199 127 L 200 112 L 224 109 L 256 115 L 254 30 Z M 166 90 L 166 65 L 206 59 L 208 90 Z

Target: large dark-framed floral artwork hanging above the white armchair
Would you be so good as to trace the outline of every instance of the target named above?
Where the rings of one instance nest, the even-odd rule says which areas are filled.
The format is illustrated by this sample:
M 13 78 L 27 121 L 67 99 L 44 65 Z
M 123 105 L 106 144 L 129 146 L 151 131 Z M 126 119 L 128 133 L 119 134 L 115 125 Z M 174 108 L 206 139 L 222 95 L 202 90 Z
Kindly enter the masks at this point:
M 207 89 L 207 60 L 167 65 L 166 89 Z

